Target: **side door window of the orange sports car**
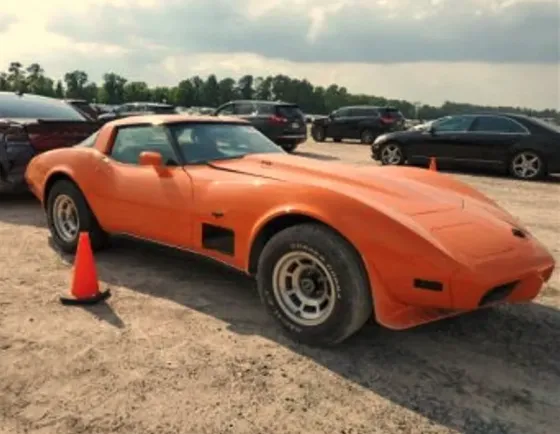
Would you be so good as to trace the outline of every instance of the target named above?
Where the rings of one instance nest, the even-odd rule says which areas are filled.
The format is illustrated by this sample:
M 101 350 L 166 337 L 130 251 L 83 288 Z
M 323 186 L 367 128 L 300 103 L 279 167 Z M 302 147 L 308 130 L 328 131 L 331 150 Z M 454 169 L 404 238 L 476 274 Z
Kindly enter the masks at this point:
M 110 157 L 124 164 L 138 164 L 142 152 L 159 152 L 167 166 L 179 164 L 164 127 L 137 125 L 117 131 Z

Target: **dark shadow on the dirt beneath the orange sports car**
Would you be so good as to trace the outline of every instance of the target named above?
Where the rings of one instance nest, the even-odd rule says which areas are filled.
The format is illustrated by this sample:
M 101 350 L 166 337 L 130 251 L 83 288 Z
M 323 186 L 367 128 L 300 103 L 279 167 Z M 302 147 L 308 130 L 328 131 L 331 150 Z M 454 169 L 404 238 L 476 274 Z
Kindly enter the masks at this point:
M 552 308 L 494 308 L 402 332 L 368 324 L 340 346 L 318 349 L 280 332 L 253 279 L 212 261 L 116 239 L 97 255 L 97 266 L 109 286 L 165 298 L 224 321 L 235 333 L 277 342 L 450 429 L 556 431 L 560 313 Z M 118 314 L 95 309 L 112 323 Z

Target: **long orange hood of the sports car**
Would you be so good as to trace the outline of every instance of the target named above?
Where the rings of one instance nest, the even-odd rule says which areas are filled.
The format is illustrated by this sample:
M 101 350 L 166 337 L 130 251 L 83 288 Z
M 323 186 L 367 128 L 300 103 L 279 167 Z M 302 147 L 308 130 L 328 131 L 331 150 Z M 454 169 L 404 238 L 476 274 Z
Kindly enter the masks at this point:
M 328 189 L 378 209 L 393 209 L 419 215 L 463 209 L 473 199 L 470 187 L 452 178 L 407 167 L 322 162 L 280 154 L 250 155 L 242 159 L 214 162 L 216 168 Z M 480 195 L 481 206 L 498 209 Z

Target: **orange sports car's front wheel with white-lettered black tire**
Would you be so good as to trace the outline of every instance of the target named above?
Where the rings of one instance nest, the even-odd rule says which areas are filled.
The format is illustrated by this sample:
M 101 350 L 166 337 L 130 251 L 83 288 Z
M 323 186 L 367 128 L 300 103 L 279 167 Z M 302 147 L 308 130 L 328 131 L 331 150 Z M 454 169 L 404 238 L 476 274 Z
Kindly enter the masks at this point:
M 346 240 L 319 224 L 276 234 L 259 259 L 257 282 L 268 312 L 297 342 L 340 343 L 373 315 L 360 257 Z

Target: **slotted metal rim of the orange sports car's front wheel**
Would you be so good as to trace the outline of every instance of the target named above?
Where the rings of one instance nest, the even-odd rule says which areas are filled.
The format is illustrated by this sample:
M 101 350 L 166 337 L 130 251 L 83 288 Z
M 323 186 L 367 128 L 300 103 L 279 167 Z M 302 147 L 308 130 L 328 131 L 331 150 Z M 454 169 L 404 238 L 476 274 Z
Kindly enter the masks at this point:
M 294 251 L 285 254 L 273 271 L 274 297 L 282 312 L 301 326 L 317 326 L 332 314 L 335 283 L 315 256 Z

